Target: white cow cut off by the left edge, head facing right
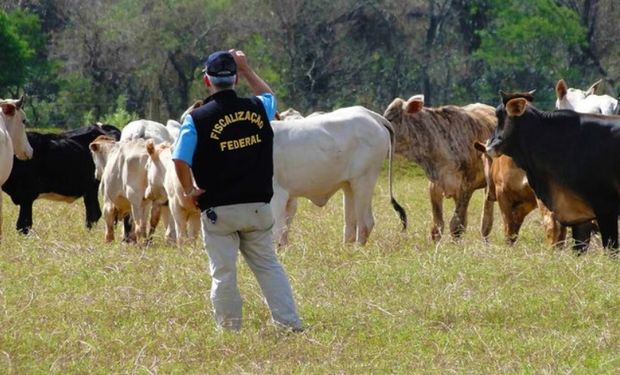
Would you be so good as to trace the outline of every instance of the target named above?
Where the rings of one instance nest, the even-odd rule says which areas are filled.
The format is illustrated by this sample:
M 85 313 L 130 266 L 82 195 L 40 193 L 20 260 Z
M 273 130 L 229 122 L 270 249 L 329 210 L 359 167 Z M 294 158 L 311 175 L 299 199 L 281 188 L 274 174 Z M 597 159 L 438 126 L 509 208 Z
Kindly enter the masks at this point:
M 13 155 L 20 160 L 32 158 L 32 146 L 26 137 L 24 98 L 0 99 L 0 186 L 11 175 Z M 2 190 L 0 190 L 0 240 L 2 239 Z

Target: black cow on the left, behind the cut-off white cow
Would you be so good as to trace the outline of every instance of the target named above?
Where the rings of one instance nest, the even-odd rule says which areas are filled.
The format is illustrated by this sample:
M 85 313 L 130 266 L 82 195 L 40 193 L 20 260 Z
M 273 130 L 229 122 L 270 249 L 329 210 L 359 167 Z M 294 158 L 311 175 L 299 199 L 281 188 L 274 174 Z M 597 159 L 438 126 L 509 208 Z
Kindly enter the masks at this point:
M 73 202 L 84 197 L 86 226 L 101 217 L 95 179 L 95 164 L 88 145 L 100 135 L 120 138 L 112 125 L 90 125 L 61 134 L 27 132 L 34 150 L 30 160 L 15 159 L 9 179 L 2 185 L 19 205 L 17 230 L 27 234 L 32 227 L 32 204 L 38 198 Z

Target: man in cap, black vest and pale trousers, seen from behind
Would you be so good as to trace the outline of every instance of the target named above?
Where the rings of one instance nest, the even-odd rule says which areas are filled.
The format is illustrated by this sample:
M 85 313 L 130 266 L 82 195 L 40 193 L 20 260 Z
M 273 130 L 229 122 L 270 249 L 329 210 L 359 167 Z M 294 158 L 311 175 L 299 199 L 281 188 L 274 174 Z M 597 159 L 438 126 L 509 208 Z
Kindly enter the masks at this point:
M 271 235 L 273 91 L 250 68 L 242 51 L 211 54 L 203 71 L 211 96 L 185 118 L 172 159 L 185 199 L 201 210 L 216 323 L 222 329 L 241 329 L 239 250 L 260 284 L 273 320 L 299 331 L 293 293 Z M 256 97 L 237 96 L 239 75 Z

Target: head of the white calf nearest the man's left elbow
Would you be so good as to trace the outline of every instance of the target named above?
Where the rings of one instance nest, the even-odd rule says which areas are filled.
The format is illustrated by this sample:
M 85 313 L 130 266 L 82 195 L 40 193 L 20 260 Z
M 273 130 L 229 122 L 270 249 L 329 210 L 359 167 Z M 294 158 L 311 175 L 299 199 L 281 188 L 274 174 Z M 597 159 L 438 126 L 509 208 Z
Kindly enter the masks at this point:
M 155 145 L 152 139 L 146 141 L 146 152 L 149 159 L 146 162 L 147 186 L 144 192 L 146 199 L 165 202 L 168 199 L 165 189 L 166 160 L 171 159 L 169 143 Z

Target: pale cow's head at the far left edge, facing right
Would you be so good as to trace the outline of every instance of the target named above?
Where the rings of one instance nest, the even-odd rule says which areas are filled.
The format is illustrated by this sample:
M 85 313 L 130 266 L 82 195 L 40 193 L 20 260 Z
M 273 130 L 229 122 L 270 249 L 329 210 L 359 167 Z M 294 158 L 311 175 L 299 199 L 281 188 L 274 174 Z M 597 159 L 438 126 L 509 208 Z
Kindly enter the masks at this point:
M 0 99 L 0 122 L 4 123 L 6 131 L 13 143 L 13 152 L 20 160 L 32 159 L 32 146 L 26 136 L 26 124 L 28 120 L 22 110 L 24 97 L 19 99 Z

